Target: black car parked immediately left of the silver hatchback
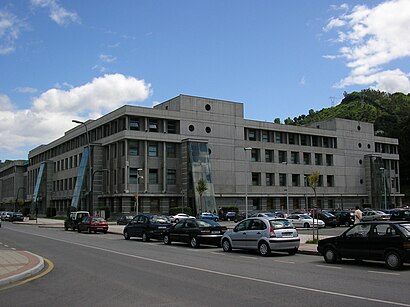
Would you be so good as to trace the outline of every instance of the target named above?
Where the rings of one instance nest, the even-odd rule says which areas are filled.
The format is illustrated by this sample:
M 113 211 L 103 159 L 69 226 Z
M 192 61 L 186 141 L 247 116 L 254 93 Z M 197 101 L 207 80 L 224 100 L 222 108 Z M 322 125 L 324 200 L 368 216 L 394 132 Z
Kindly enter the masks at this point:
M 220 246 L 226 230 L 212 220 L 185 219 L 164 231 L 164 244 L 185 242 L 194 248 L 201 244 Z

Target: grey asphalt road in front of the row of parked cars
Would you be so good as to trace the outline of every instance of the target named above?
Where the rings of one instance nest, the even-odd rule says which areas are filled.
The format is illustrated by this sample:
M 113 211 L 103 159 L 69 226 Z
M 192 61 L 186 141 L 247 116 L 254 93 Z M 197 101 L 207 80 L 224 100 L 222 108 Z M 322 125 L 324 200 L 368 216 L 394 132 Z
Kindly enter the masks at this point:
M 44 277 L 0 290 L 0 306 L 410 306 L 410 266 L 184 244 L 4 223 L 1 243 L 54 264 Z

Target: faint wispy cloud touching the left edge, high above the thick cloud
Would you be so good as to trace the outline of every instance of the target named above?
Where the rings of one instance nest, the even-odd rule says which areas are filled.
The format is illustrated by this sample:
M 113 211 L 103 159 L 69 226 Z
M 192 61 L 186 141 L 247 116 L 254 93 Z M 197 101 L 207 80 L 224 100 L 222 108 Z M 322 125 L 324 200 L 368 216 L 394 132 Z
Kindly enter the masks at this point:
M 15 41 L 25 27 L 25 23 L 16 15 L 0 10 L 0 54 L 5 55 L 15 51 Z

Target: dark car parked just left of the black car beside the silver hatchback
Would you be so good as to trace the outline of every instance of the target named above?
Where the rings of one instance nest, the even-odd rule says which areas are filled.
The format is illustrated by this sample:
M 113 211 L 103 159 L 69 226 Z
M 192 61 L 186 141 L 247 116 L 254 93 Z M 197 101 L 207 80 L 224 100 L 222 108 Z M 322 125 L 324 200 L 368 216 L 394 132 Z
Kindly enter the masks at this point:
M 164 230 L 171 225 L 165 215 L 139 214 L 124 227 L 123 235 L 125 240 L 131 237 L 141 237 L 144 242 L 150 239 L 162 240 Z

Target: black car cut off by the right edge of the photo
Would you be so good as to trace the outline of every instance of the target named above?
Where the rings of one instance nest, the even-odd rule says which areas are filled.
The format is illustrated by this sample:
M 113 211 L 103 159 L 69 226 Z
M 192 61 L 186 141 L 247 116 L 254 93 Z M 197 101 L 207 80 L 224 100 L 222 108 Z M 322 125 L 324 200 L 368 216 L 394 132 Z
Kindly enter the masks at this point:
M 410 223 L 375 221 L 357 223 L 337 237 L 319 241 L 318 252 L 327 263 L 342 258 L 385 261 L 398 270 L 410 262 Z

